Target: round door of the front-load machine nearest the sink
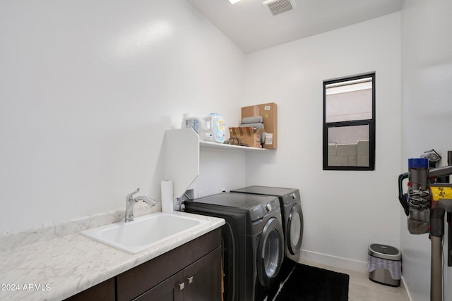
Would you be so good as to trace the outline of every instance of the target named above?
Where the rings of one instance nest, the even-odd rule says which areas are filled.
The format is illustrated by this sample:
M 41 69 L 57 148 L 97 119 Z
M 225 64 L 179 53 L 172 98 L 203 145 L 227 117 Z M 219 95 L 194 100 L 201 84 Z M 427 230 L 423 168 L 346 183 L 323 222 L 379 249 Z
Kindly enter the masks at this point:
M 263 227 L 257 257 L 259 282 L 263 288 L 270 288 L 278 276 L 284 258 L 283 226 L 274 217 Z

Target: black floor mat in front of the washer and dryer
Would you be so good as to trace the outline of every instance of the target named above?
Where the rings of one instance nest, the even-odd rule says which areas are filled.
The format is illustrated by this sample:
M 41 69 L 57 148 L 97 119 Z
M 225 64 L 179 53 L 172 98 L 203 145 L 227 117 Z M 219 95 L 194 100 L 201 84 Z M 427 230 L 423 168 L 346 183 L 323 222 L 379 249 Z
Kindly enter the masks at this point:
M 346 301 L 350 276 L 297 264 L 275 301 Z

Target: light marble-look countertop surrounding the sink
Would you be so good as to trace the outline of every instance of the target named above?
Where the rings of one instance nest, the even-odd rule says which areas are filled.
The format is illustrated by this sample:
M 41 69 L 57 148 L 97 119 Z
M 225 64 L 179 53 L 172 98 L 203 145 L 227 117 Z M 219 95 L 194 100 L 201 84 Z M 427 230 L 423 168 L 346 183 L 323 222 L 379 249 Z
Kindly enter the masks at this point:
M 184 214 L 209 223 L 137 254 L 95 242 L 80 233 L 2 250 L 0 300 L 63 300 L 225 223 L 223 219 L 210 216 L 182 212 L 174 214 Z

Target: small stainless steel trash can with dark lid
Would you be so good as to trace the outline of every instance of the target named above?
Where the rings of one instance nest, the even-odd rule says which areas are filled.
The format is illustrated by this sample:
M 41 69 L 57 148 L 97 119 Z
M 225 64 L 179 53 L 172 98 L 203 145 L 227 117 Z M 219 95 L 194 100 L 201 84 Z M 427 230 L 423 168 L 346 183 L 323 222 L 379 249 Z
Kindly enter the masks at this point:
M 400 286 L 402 254 L 390 245 L 369 245 L 369 279 L 389 286 Z

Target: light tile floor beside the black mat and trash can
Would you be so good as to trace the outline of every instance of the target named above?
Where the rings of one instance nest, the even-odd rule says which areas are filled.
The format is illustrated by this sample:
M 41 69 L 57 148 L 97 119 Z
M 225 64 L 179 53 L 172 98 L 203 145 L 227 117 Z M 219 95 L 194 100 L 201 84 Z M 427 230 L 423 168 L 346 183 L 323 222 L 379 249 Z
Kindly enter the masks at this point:
M 348 274 L 350 276 L 348 287 L 349 301 L 410 301 L 407 291 L 403 288 L 403 283 L 401 283 L 400 287 L 393 288 L 388 285 L 381 285 L 370 281 L 368 273 L 349 271 L 347 269 L 326 266 L 315 262 L 302 263 Z

